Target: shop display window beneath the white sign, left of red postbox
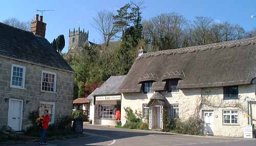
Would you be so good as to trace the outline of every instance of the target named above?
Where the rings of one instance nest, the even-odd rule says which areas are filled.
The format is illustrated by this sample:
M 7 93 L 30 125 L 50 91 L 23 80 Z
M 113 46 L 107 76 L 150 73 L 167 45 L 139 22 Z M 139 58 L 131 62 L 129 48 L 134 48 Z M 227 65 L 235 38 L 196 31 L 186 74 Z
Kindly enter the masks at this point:
M 99 119 L 115 119 L 116 105 L 99 105 Z

